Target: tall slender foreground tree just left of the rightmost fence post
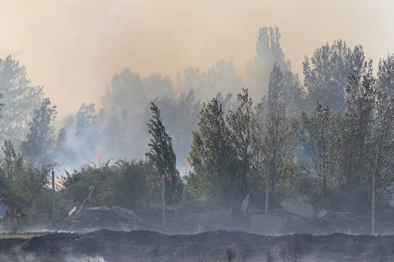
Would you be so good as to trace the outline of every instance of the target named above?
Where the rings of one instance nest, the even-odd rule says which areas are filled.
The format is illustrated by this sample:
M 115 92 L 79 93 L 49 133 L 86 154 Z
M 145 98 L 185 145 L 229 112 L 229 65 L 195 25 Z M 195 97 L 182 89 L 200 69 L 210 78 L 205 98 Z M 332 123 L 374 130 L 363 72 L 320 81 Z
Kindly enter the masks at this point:
M 344 123 L 336 140 L 338 172 L 335 180 L 340 188 L 351 191 L 366 182 L 371 174 L 367 171 L 368 164 L 375 159 L 371 143 L 377 91 L 375 79 L 353 71 L 346 91 L 350 98 L 346 101 Z

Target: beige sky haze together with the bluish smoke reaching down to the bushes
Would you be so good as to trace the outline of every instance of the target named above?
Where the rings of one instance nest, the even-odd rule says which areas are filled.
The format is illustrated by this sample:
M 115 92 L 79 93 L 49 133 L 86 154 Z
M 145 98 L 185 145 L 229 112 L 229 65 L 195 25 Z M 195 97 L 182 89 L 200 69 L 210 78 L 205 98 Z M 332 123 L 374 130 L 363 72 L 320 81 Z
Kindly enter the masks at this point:
M 393 52 L 391 29 L 381 26 L 394 22 L 390 5 L 6 1 L 0 19 L 7 24 L 4 33 L 13 37 L 4 38 L 0 54 L 20 60 L 30 84 L 44 85 L 45 97 L 57 106 L 53 124 L 63 140 L 52 159 L 75 167 L 98 158 L 143 157 L 150 139 L 149 103 L 155 101 L 185 172 L 203 102 L 219 92 L 223 98 L 231 92 L 234 101 L 241 87 L 259 102 L 275 61 L 302 84 L 304 54 L 340 38 L 351 47 L 362 44 L 375 61 L 385 57 Z M 366 17 L 373 19 L 361 27 Z M 280 46 L 258 43 L 259 29 L 269 26 Z M 184 111 L 185 104 L 192 106 Z M 20 139 L 15 143 L 19 147 Z

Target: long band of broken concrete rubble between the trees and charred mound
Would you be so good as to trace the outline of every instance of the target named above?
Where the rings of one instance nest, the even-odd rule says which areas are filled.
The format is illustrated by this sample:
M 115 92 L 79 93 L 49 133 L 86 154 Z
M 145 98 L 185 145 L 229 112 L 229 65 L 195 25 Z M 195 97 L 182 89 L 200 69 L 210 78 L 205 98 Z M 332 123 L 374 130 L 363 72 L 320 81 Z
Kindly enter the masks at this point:
M 206 213 L 192 203 L 166 206 L 165 227 L 161 212 L 138 216 L 133 210 L 117 206 L 100 206 L 96 200 L 97 187 L 92 185 L 89 194 L 80 206 L 58 203 L 54 209 L 48 206 L 36 215 L 26 215 L 23 203 L 7 204 L 10 192 L 0 192 L 0 232 L 71 231 L 87 232 L 97 229 L 130 231 L 149 229 L 165 233 L 190 234 L 224 229 L 264 234 L 352 232 L 369 234 L 371 214 L 352 214 L 317 209 L 309 203 L 287 198 L 277 208 L 265 211 L 253 205 L 248 194 L 238 207 L 221 207 L 216 212 Z M 98 205 L 98 206 L 97 206 Z M 79 207 L 79 208 L 78 208 Z M 267 221 L 266 221 L 267 220 Z M 388 205 L 375 213 L 377 232 L 394 232 L 394 209 Z

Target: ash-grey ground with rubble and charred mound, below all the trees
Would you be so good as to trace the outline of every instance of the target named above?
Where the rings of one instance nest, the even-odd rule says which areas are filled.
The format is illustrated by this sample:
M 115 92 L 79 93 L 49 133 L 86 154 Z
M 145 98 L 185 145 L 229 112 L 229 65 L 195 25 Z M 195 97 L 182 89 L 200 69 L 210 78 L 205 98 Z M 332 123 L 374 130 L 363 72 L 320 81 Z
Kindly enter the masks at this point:
M 249 195 L 241 207 L 221 207 L 213 213 L 204 213 L 191 203 L 167 206 L 165 227 L 160 209 L 136 213 L 116 206 L 58 207 L 52 220 L 50 208 L 35 216 L 18 216 L 17 209 L 8 206 L 0 219 L 1 229 L 8 231 L 0 235 L 0 258 L 147 262 L 394 259 L 394 209 L 390 205 L 379 206 L 375 212 L 375 231 L 380 235 L 368 235 L 372 232 L 368 210 L 332 212 L 290 198 L 268 211 L 267 228 L 265 211 L 252 205 Z M 39 230 L 43 231 L 33 232 Z

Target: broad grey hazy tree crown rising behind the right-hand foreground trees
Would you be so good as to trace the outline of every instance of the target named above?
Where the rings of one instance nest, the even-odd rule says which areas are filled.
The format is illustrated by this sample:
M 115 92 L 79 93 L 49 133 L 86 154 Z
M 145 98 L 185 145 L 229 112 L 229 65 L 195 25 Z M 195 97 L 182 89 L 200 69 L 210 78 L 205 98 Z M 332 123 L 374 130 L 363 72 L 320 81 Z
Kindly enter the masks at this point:
M 372 74 L 372 60 L 367 63 L 361 45 L 351 50 L 342 40 L 334 41 L 332 46 L 326 43 L 313 52 L 311 64 L 305 55 L 303 73 L 309 108 L 313 108 L 316 101 L 329 108 L 343 107 L 348 98 L 346 83 L 352 70 Z

